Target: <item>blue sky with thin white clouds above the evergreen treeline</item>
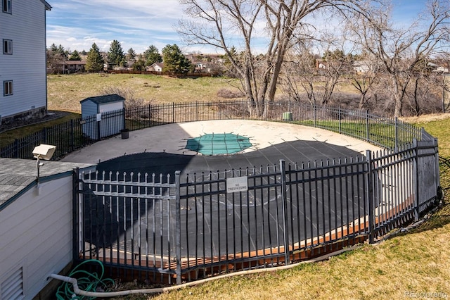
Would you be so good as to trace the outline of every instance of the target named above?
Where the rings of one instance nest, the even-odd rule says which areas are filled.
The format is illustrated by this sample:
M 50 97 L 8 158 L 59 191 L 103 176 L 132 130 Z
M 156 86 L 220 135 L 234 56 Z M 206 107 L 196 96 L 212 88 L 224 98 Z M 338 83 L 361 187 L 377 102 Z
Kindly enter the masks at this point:
M 47 46 L 62 45 L 66 50 L 89 51 L 95 42 L 108 51 L 114 39 L 124 52 L 133 48 L 137 54 L 148 46 L 160 51 L 167 44 L 177 44 L 184 53 L 217 53 L 205 46 L 186 46 L 174 29 L 184 13 L 178 0 L 46 0 Z M 393 16 L 409 23 L 425 8 L 426 0 L 392 0 Z M 219 52 L 221 53 L 221 52 Z

